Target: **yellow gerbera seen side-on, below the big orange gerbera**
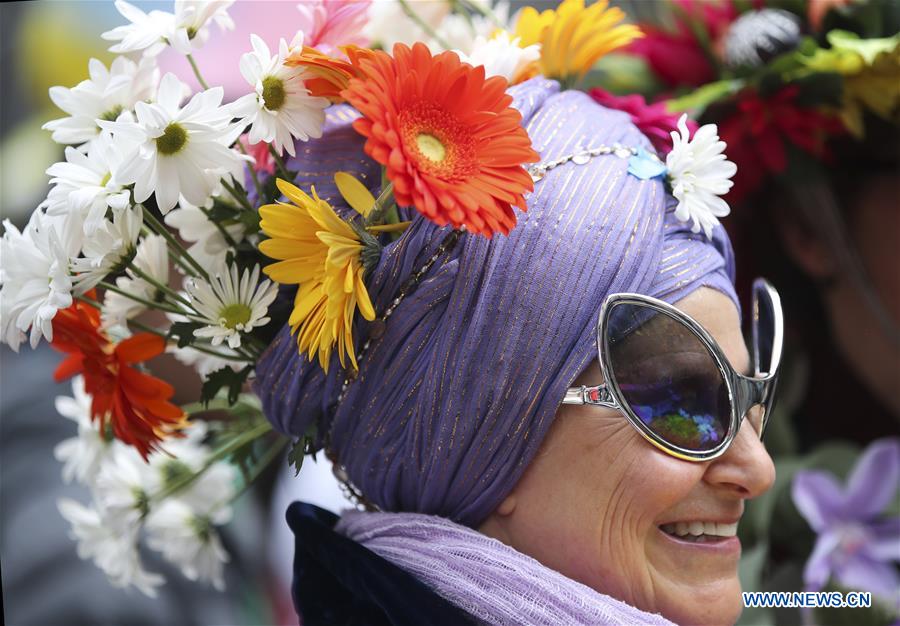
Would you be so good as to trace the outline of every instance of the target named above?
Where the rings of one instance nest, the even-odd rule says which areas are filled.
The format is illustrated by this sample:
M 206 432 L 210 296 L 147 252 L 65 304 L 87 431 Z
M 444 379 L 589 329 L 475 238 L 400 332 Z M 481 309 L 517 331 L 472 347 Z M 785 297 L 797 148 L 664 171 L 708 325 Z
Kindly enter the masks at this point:
M 319 198 L 315 187 L 310 197 L 287 181 L 279 179 L 276 184 L 292 204 L 267 204 L 259 209 L 260 228 L 270 237 L 259 249 L 279 260 L 263 271 L 283 285 L 300 285 L 288 319 L 291 331 L 299 330 L 300 353 L 310 360 L 318 353 L 319 364 L 327 372 L 337 345 L 341 366 L 346 367 L 348 356 L 353 369 L 359 369 L 353 350 L 353 314 L 358 307 L 365 319 L 375 319 L 363 283 L 360 255 L 365 244 Z

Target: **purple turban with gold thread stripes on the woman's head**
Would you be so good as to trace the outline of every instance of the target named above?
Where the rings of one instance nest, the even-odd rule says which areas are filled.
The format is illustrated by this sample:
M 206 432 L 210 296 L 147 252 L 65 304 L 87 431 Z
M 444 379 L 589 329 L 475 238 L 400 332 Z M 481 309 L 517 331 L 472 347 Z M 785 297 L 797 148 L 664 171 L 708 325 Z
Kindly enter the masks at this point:
M 626 114 L 535 78 L 513 87 L 514 106 L 542 162 L 599 145 L 652 150 Z M 315 184 L 344 206 L 331 180 L 356 174 L 369 187 L 376 164 L 350 127 L 349 107 L 330 110 L 325 135 L 299 144 L 297 184 Z M 337 358 L 326 375 L 299 355 L 283 328 L 257 366 L 255 390 L 282 432 L 316 426 L 366 497 L 388 511 L 441 515 L 477 526 L 512 490 L 575 378 L 597 358 L 604 298 L 637 292 L 675 302 L 706 285 L 737 304 L 731 246 L 674 217 L 659 179 L 627 173 L 613 155 L 567 163 L 535 184 L 508 236 L 463 234 L 372 337 L 338 404 Z M 415 212 L 387 245 L 366 284 L 380 317 L 449 227 Z M 354 321 L 357 350 L 372 324 Z

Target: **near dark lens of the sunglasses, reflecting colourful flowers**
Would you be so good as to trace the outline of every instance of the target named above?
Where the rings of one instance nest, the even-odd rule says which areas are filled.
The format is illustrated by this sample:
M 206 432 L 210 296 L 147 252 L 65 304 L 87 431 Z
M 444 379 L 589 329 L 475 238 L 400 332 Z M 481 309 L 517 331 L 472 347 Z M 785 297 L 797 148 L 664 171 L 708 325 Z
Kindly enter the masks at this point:
M 700 337 L 642 304 L 616 303 L 607 324 L 610 376 L 646 429 L 693 452 L 721 445 L 731 424 L 728 387 Z

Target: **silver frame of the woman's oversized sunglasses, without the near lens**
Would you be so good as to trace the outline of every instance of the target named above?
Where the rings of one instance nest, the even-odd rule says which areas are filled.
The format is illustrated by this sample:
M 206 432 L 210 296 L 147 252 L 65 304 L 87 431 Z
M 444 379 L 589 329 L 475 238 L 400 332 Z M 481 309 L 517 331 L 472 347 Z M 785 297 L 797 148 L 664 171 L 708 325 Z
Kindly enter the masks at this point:
M 768 298 L 771 303 L 771 315 L 774 326 L 772 334 L 771 364 L 769 367 L 771 371 L 769 372 L 761 371 L 759 364 L 759 306 L 761 297 Z M 664 438 L 653 432 L 650 427 L 647 426 L 634 411 L 631 410 L 631 408 L 629 408 L 628 403 L 625 402 L 624 395 L 616 381 L 615 371 L 610 362 L 609 337 L 606 332 L 609 326 L 610 313 L 616 305 L 620 304 L 635 304 L 648 307 L 681 323 L 700 339 L 716 361 L 716 365 L 718 366 L 719 372 L 725 380 L 725 386 L 728 389 L 728 398 L 731 404 L 731 422 L 722 442 L 712 450 L 691 450 L 666 441 Z M 762 439 L 763 433 L 765 433 L 766 424 L 769 421 L 772 406 L 774 405 L 775 387 L 778 382 L 778 369 L 781 364 L 781 354 L 784 347 L 784 316 L 781 308 L 781 297 L 778 295 L 775 287 L 764 278 L 757 278 L 753 281 L 752 306 L 753 376 L 744 376 L 734 369 L 728 361 L 728 357 L 725 356 L 722 348 L 719 347 L 716 340 L 712 338 L 703 326 L 668 302 L 636 293 L 617 293 L 607 296 L 606 300 L 603 302 L 603 306 L 600 308 L 600 315 L 597 320 L 597 357 L 600 362 L 600 370 L 603 372 L 603 379 L 606 383 L 602 385 L 570 387 L 568 391 L 566 391 L 566 396 L 562 403 L 587 404 L 617 409 L 625 414 L 625 417 L 628 418 L 628 421 L 631 422 L 632 426 L 634 426 L 650 443 L 662 451 L 686 461 L 710 461 L 723 455 L 737 436 L 747 412 L 757 404 L 761 405 L 763 409 L 762 424 L 759 429 L 759 437 Z

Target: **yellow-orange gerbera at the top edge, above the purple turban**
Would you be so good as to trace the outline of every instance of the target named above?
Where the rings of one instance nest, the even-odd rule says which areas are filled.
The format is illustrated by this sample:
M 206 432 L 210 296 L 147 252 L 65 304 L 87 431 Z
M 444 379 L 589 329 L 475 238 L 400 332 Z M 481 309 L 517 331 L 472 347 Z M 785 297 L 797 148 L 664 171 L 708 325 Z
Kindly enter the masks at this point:
M 525 7 L 515 36 L 523 48 L 541 44 L 541 73 L 568 83 L 582 78 L 603 55 L 643 36 L 637 26 L 619 24 L 625 19 L 621 9 L 607 7 L 607 0 L 589 7 L 584 0 L 563 0 L 555 11 L 543 13 Z

